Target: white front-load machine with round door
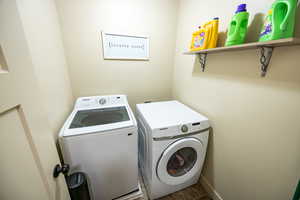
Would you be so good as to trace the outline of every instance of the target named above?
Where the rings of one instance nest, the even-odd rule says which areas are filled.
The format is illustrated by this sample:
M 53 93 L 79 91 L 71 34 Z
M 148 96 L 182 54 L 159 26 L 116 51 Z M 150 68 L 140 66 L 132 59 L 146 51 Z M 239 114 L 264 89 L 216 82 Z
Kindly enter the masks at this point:
M 166 101 L 138 104 L 137 121 L 139 165 L 150 199 L 195 184 L 206 154 L 208 119 Z

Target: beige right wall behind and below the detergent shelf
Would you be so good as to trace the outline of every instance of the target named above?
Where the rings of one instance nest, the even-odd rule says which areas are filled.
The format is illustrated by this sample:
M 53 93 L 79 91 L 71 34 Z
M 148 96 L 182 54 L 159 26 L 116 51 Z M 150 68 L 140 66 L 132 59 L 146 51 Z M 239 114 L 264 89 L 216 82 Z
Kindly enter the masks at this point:
M 271 3 L 246 2 L 251 20 Z M 291 199 L 300 178 L 300 47 L 276 48 L 266 78 L 256 50 L 208 55 L 204 73 L 182 54 L 199 24 L 219 16 L 225 31 L 238 3 L 180 1 L 173 95 L 211 120 L 204 176 L 224 200 Z

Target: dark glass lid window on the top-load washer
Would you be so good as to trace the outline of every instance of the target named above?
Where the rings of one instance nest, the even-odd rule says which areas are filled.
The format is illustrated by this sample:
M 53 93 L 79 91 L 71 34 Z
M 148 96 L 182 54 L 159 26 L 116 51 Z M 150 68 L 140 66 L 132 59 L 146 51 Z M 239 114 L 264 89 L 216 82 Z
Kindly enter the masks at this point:
M 125 106 L 114 108 L 101 108 L 80 110 L 76 113 L 70 128 L 82 128 L 117 122 L 128 121 L 129 116 Z

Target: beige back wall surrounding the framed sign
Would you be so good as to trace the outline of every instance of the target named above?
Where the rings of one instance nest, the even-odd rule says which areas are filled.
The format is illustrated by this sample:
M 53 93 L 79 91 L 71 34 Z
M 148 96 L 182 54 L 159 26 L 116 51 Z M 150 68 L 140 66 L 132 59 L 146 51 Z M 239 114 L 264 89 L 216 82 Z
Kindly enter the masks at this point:
M 75 97 L 171 97 L 177 0 L 56 0 Z M 103 60 L 101 31 L 147 35 L 149 61 Z

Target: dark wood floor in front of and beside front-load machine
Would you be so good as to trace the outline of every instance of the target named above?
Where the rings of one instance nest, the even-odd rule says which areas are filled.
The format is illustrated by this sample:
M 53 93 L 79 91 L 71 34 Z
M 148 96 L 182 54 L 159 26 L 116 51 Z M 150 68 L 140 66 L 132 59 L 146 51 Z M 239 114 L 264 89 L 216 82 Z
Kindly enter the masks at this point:
M 144 193 L 144 197 L 138 198 L 137 200 L 148 200 L 147 192 L 143 184 L 143 179 L 140 178 L 141 187 Z M 178 192 L 169 194 L 168 196 L 159 198 L 158 200 L 212 200 L 207 192 L 204 190 L 202 185 L 198 182 L 188 188 L 180 190 Z

